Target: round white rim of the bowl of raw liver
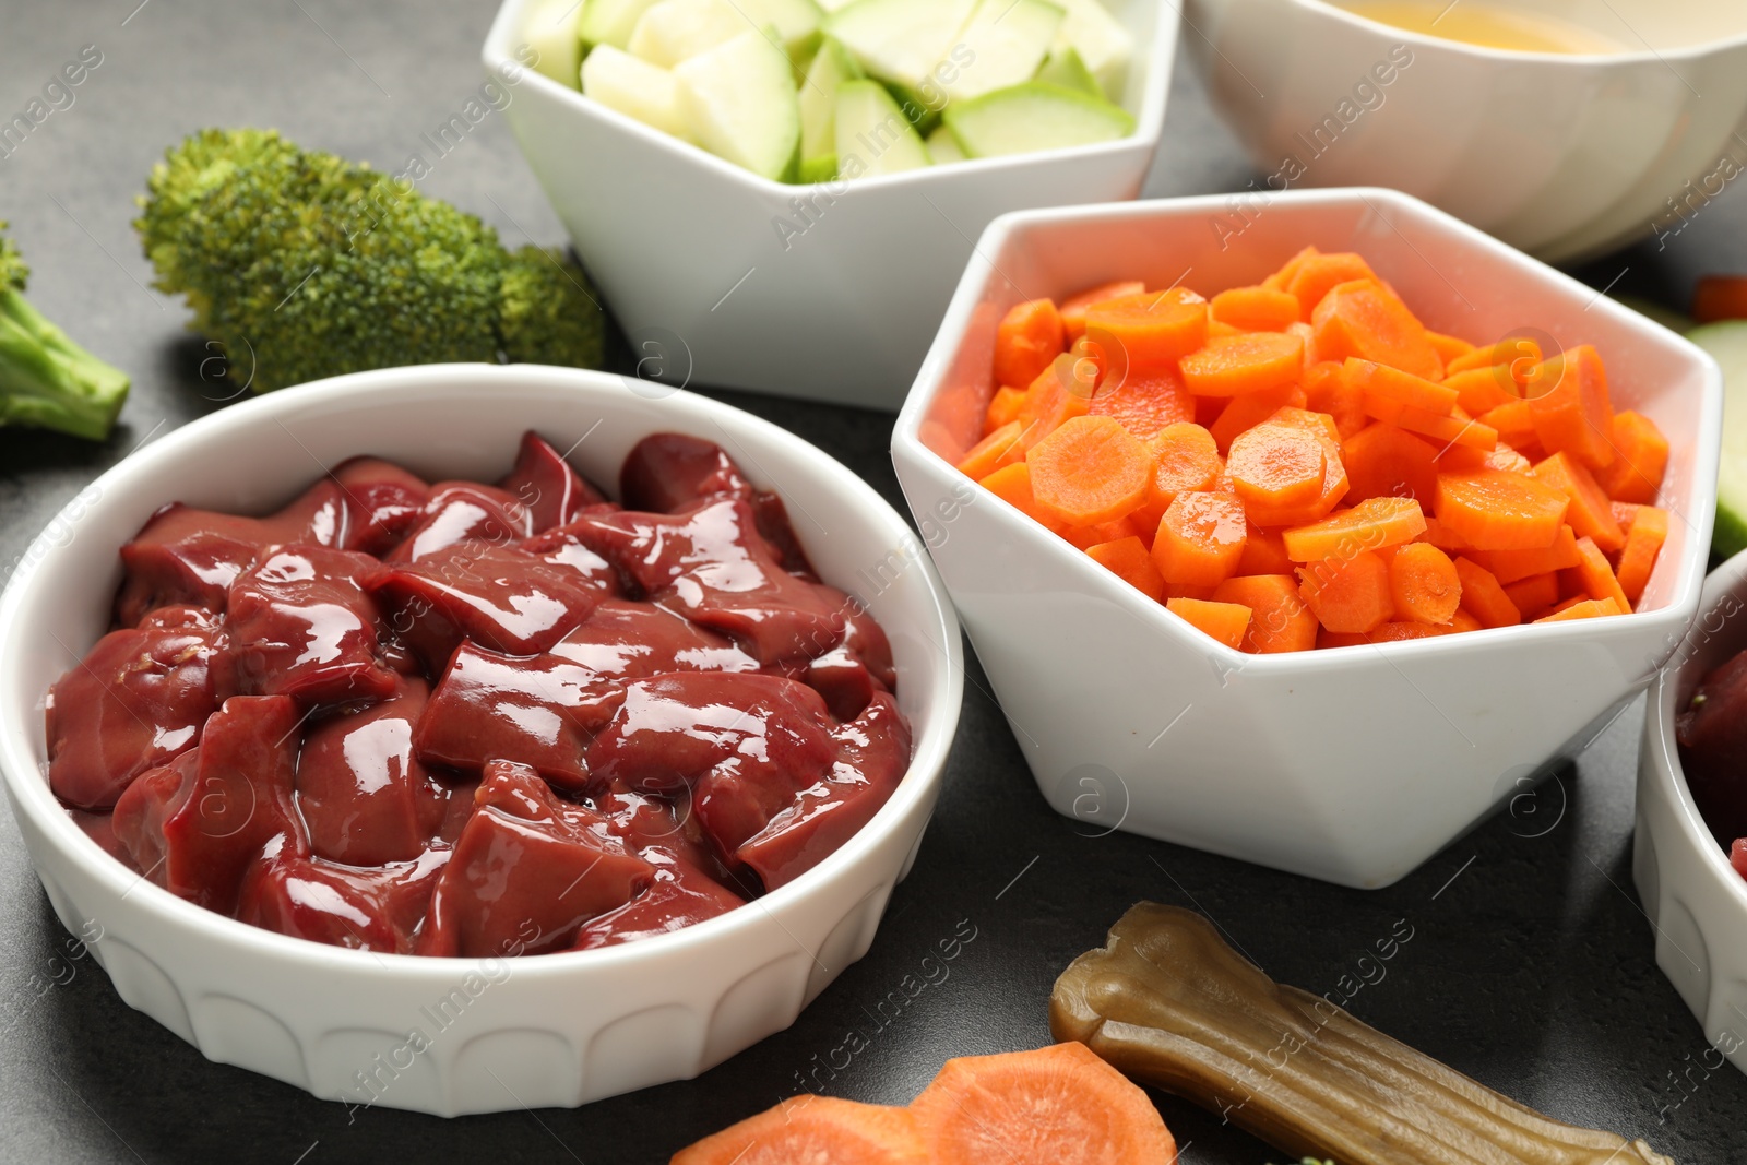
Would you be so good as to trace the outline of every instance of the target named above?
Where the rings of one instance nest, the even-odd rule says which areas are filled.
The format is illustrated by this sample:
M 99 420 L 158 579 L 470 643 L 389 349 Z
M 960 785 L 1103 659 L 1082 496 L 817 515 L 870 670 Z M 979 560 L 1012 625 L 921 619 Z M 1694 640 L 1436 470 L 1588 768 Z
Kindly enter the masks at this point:
M 608 391 L 627 391 L 624 377 L 608 372 L 559 369 L 550 365 L 505 367 L 487 363 L 447 363 L 351 372 L 346 376 L 280 389 L 266 396 L 243 400 L 204 417 L 189 421 L 187 424 L 166 433 L 105 470 L 96 479 L 96 484 L 103 487 L 103 496 L 124 496 L 126 482 L 138 472 L 131 466 L 173 459 L 182 456 L 183 451 L 194 449 L 208 440 L 246 433 L 260 424 L 293 419 L 297 414 L 306 410 L 321 412 L 325 405 L 356 400 L 360 395 L 381 393 L 384 396 L 393 396 L 418 393 L 426 388 L 461 384 L 473 386 L 484 381 L 498 381 L 500 384 L 494 386 L 498 391 L 514 391 L 517 388 L 563 391 L 566 386 L 571 389 L 585 388 L 587 391 L 601 395 L 606 395 Z M 791 444 L 800 459 L 811 461 L 826 475 L 839 479 L 851 494 L 872 503 L 867 507 L 868 514 L 889 526 L 894 536 L 914 538 L 908 524 L 884 498 L 874 491 L 872 486 L 856 477 L 840 461 L 795 433 L 732 405 L 709 400 L 708 396 L 685 389 L 674 389 L 671 396 L 664 396 L 662 407 L 692 410 L 692 416 L 685 419 L 709 419 L 718 423 L 723 431 L 735 433 L 737 437 L 774 437 L 777 442 Z M 9 658 L 12 655 L 12 629 L 17 625 L 21 610 L 33 601 L 33 580 L 40 573 L 42 562 L 45 562 L 52 554 L 54 550 L 51 548 L 38 559 L 21 566 L 7 583 L 5 590 L 0 592 L 0 658 Z M 931 625 L 924 631 L 929 636 L 938 634 L 940 641 L 936 646 L 945 646 L 945 660 L 933 665 L 936 669 L 943 669 L 945 674 L 931 704 L 933 716 L 929 718 L 929 728 L 915 737 L 912 744 L 910 767 L 905 770 L 898 788 L 879 809 L 879 812 L 818 866 L 807 870 L 807 873 L 800 875 L 793 882 L 781 886 L 762 898 L 748 901 L 742 908 L 730 910 L 715 919 L 708 919 L 667 934 L 641 938 L 632 943 L 618 943 L 597 950 L 524 955 L 514 962 L 517 976 L 564 976 L 578 973 L 589 966 L 660 959 L 669 954 L 683 957 L 681 952 L 688 947 L 713 943 L 718 938 L 727 938 L 735 929 L 744 931 L 746 927 L 755 926 L 751 910 L 755 906 L 770 915 L 772 920 L 777 920 L 776 915 L 770 913 L 772 903 L 784 906 L 807 896 L 816 884 L 832 877 L 833 872 L 849 865 L 858 854 L 870 849 L 875 844 L 875 835 L 889 830 L 894 821 L 905 816 L 922 796 L 926 796 L 926 789 L 933 784 L 926 774 L 938 770 L 943 777 L 947 753 L 957 730 L 964 692 L 964 658 L 959 641 L 957 615 L 947 597 L 945 587 L 942 585 L 931 562 L 921 561 L 917 566 L 922 569 L 921 580 L 933 603 L 935 615 L 935 620 L 931 620 Z M 9 692 L 9 672 L 0 672 L 0 700 L 3 700 L 0 702 L 0 716 L 5 716 L 7 709 L 14 706 L 14 695 L 23 695 Z M 33 707 L 42 707 L 40 693 L 33 695 Z M 215 910 L 197 906 L 192 901 L 176 898 L 168 889 L 128 870 L 128 866 L 107 854 L 89 835 L 86 835 L 84 830 L 79 828 L 72 814 L 61 807 L 49 789 L 47 777 L 33 756 L 30 735 L 31 730 L 26 725 L 0 720 L 0 777 L 5 779 L 14 805 L 23 814 L 28 814 L 38 830 L 49 833 L 54 844 L 70 851 L 75 859 L 84 859 L 87 872 L 100 882 L 105 882 L 112 893 L 133 896 L 140 910 L 154 913 L 168 924 L 192 927 L 208 941 L 252 945 L 264 955 L 300 959 L 311 969 L 348 975 L 390 978 L 414 976 L 419 982 L 449 982 L 458 973 L 465 973 L 466 969 L 480 969 L 487 964 L 501 962 L 496 957 L 402 955 L 355 950 L 349 947 L 332 947 L 313 940 L 280 934 L 276 931 L 266 931 Z M 777 924 L 781 926 L 781 920 L 777 920 Z M 811 955 L 814 952 L 804 954 Z

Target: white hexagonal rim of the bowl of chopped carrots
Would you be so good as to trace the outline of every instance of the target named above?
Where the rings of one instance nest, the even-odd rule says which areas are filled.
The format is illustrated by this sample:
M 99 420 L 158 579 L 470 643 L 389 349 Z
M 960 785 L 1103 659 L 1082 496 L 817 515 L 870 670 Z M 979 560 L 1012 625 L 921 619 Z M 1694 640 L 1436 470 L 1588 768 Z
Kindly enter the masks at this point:
M 1034 225 L 1062 225 L 1074 222 L 1090 220 L 1120 220 L 1120 218 L 1150 218 L 1169 215 L 1176 217 L 1181 213 L 1198 213 L 1198 211 L 1225 211 L 1226 194 L 1200 194 L 1193 197 L 1165 197 L 1165 199 L 1137 199 L 1132 203 L 1104 203 L 1088 206 L 1052 206 L 1043 210 L 1020 210 L 1008 211 L 998 217 L 984 231 L 982 238 L 977 241 L 977 248 L 971 253 L 970 265 L 964 271 L 964 279 L 952 295 L 952 302 L 947 307 L 945 320 L 942 321 L 940 334 L 935 337 L 935 344 L 928 351 L 928 358 L 922 362 L 921 370 L 915 374 L 915 383 L 910 388 L 908 396 L 905 396 L 903 409 L 898 414 L 898 423 L 893 426 L 893 454 L 896 456 L 900 449 L 908 456 L 933 458 L 938 465 L 945 466 L 949 472 L 956 472 L 945 458 L 936 454 L 921 440 L 922 421 L 926 419 L 928 407 L 933 403 L 935 391 L 929 386 L 936 381 L 943 381 L 945 362 L 950 351 L 957 346 L 964 327 L 970 321 L 971 309 L 975 307 L 977 295 L 984 281 L 991 272 L 999 274 L 994 267 L 992 257 L 1001 252 L 1006 239 L 1015 231 L 1034 227 Z M 1450 229 L 1469 241 L 1473 246 L 1488 250 L 1494 253 L 1502 253 L 1515 257 L 1522 264 L 1530 264 L 1541 269 L 1541 274 L 1560 285 L 1567 292 L 1578 292 L 1583 295 L 1593 295 L 1595 290 L 1585 283 L 1579 283 L 1572 276 L 1543 264 L 1541 260 L 1518 252 L 1516 248 L 1494 239 L 1478 227 L 1471 227 L 1460 218 L 1448 215 L 1429 203 L 1424 203 L 1412 194 L 1403 194 L 1401 190 L 1392 190 L 1385 187 L 1319 187 L 1319 189 L 1293 189 L 1272 194 L 1270 204 L 1279 199 L 1282 203 L 1298 203 L 1305 206 L 1319 204 L 1352 204 L 1366 203 L 1373 213 L 1378 203 L 1387 203 L 1398 211 L 1424 215 L 1438 220 L 1445 229 Z M 1385 220 L 1387 222 L 1387 220 Z M 1654 335 L 1658 341 L 1667 342 L 1668 339 L 1679 341 L 1686 346 L 1688 356 L 1693 358 L 1707 376 L 1703 377 L 1702 391 L 1705 400 L 1700 403 L 1700 433 L 1721 431 L 1723 424 L 1723 370 L 1717 367 L 1716 360 L 1710 358 L 1702 348 L 1688 341 L 1686 337 L 1668 332 L 1658 323 L 1640 316 L 1639 313 L 1609 300 L 1605 295 L 1597 295 L 1597 302 L 1592 304 L 1592 311 L 1599 311 L 1605 316 L 1612 316 L 1616 321 L 1626 327 Z M 1665 334 L 1665 335 L 1663 335 Z M 1709 365 L 1709 367 L 1707 367 Z M 1700 442 L 1695 459 L 1695 480 L 1712 480 L 1717 470 L 1717 445 L 1716 442 Z M 1085 554 L 1076 550 L 1073 543 L 1064 538 L 1050 534 L 1045 527 L 1038 526 L 1029 515 L 1020 512 L 1012 503 L 994 498 L 999 510 L 1008 519 L 1013 519 L 1012 527 L 1015 536 L 1027 538 L 1032 548 L 1048 547 L 1045 554 L 1062 555 L 1057 561 L 1080 562 Z M 1460 653 L 1483 648 L 1488 643 L 1497 641 L 1501 636 L 1515 636 L 1516 639 L 1529 639 L 1530 643 L 1541 645 L 1558 645 L 1562 641 L 1578 639 L 1583 636 L 1597 634 L 1616 634 L 1630 632 L 1633 627 L 1642 627 L 1646 620 L 1656 622 L 1681 622 L 1682 632 L 1684 624 L 1691 617 L 1682 618 L 1681 611 L 1693 608 L 1698 603 L 1698 594 L 1705 583 L 1705 562 L 1710 548 L 1710 524 L 1707 520 L 1700 522 L 1702 529 L 1695 533 L 1686 547 L 1686 555 L 1681 562 L 1681 576 L 1674 594 L 1668 601 L 1653 611 L 1633 611 L 1632 615 L 1616 615 L 1609 618 L 1597 620 L 1565 620 L 1557 624 L 1518 624 L 1516 627 L 1492 627 L 1481 631 L 1471 631 L 1457 636 L 1433 636 L 1426 639 L 1399 639 L 1392 643 L 1361 643 L 1343 648 L 1317 648 L 1314 651 L 1279 651 L 1268 655 L 1253 655 L 1247 651 L 1239 651 L 1237 648 L 1226 646 L 1193 627 L 1177 615 L 1172 615 L 1164 603 L 1153 603 L 1137 589 L 1116 578 L 1111 571 L 1095 569 L 1090 561 L 1085 562 L 1087 576 L 1097 578 L 1095 587 L 1102 589 L 1106 599 L 1118 603 L 1125 611 L 1160 629 L 1164 634 L 1177 638 L 1188 643 L 1211 658 L 1219 660 L 1228 671 L 1256 671 L 1261 676 L 1291 676 L 1295 672 L 1326 672 L 1329 669 L 1340 671 L 1345 667 L 1364 665 L 1371 658 L 1371 651 L 1382 655 L 1391 665 L 1394 660 L 1417 660 L 1433 658 L 1440 653 Z M 1020 529 L 1022 527 L 1022 529 Z M 1637 622 L 1626 622 L 1637 620 Z

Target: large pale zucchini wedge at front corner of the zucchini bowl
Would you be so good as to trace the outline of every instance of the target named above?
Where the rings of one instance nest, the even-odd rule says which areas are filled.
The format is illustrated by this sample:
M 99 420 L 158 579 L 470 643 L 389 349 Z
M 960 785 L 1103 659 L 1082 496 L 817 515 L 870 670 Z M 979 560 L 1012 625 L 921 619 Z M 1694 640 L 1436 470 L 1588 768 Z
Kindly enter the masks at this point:
M 742 31 L 673 72 L 699 145 L 763 178 L 788 175 L 800 145 L 795 73 L 762 31 Z

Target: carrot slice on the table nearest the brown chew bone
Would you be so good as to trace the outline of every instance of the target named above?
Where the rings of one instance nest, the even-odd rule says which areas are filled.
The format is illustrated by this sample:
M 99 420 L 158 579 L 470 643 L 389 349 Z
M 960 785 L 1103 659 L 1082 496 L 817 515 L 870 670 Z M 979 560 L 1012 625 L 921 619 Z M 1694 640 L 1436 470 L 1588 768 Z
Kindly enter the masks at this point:
M 910 1113 L 933 1165 L 1177 1160 L 1148 1095 L 1081 1043 L 947 1060 Z

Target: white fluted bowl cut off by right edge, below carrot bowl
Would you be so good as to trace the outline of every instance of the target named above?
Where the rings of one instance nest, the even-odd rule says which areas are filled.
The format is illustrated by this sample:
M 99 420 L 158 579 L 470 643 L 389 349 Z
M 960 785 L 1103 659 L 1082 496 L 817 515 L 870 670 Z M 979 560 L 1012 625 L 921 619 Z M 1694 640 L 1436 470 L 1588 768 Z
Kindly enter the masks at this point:
M 1747 648 L 1747 552 L 1710 575 L 1698 611 L 1649 690 L 1632 880 L 1656 931 L 1656 966 L 1710 1046 L 1747 1072 L 1747 880 L 1705 828 L 1674 741 L 1675 709 L 1712 667 Z

